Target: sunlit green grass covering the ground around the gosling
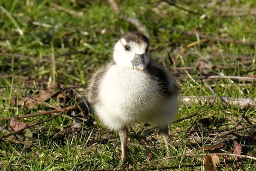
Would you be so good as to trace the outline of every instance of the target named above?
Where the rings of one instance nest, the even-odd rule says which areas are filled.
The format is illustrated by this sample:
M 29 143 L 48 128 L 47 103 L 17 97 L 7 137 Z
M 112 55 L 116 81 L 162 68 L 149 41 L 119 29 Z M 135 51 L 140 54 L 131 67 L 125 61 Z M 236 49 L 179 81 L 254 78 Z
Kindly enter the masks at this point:
M 7 86 L 0 90 L 0 117 L 11 117 L 35 113 L 38 111 L 50 110 L 44 105 L 36 105 L 33 109 L 14 105 L 12 98 L 20 99 L 25 95 L 33 95 L 37 89 L 23 89 L 23 87 L 42 87 L 45 82 L 34 82 L 25 84 L 24 79 L 45 79 L 46 82 L 59 82 L 65 86 L 87 84 L 90 75 L 96 68 L 105 64 L 112 56 L 112 47 L 116 40 L 124 33 L 136 31 L 136 28 L 120 20 L 107 1 L 82 1 L 62 0 L 54 3 L 66 10 L 57 9 L 50 4 L 50 0 L 9 0 L 0 2 L 0 52 L 10 54 L 23 54 L 31 56 L 28 58 L 14 58 L 0 55 L 0 86 Z M 118 1 L 120 10 L 127 16 L 138 18 L 148 29 L 150 38 L 150 52 L 152 58 L 158 62 L 164 61 L 167 68 L 173 66 L 168 60 L 168 54 L 175 58 L 176 66 L 194 66 L 194 63 L 204 56 L 213 65 L 230 66 L 240 64 L 242 60 L 236 60 L 227 54 L 238 56 L 251 55 L 252 64 L 247 67 L 236 67 L 218 69 L 214 68 L 212 75 L 224 76 L 255 76 L 256 48 L 234 43 L 223 42 L 202 42 L 187 48 L 187 45 L 197 40 L 196 36 L 186 36 L 180 31 L 196 30 L 201 34 L 213 35 L 215 37 L 227 36 L 233 40 L 255 41 L 256 22 L 255 16 L 222 17 L 216 8 L 242 7 L 244 9 L 256 8 L 255 0 L 246 1 L 191 1 L 182 0 L 179 6 L 189 8 L 200 14 L 191 14 L 175 6 L 151 0 L 142 1 Z M 70 14 L 72 10 L 82 14 Z M 81 13 L 82 12 L 82 13 Z M 65 52 L 82 51 L 66 56 L 58 56 Z M 220 53 L 217 57 L 214 52 Z M 50 62 L 44 62 L 49 60 Z M 23 70 L 34 66 L 28 70 Z M 188 71 L 178 76 L 185 76 L 184 81 L 179 81 L 181 95 L 212 95 L 212 92 L 203 82 L 194 81 L 202 74 L 196 70 Z M 25 77 L 25 78 L 24 78 Z M 49 80 L 50 79 L 50 80 Z M 214 91 L 217 96 L 229 97 L 256 97 L 255 82 L 251 86 L 238 85 L 232 80 L 207 81 L 208 84 L 215 84 Z M 240 83 L 244 83 L 240 81 Z M 222 84 L 231 84 L 230 87 Z M 18 87 L 18 89 L 14 88 Z M 85 89 L 78 89 L 83 93 Z M 49 104 L 61 107 L 52 98 Z M 65 106 L 76 105 L 75 99 L 70 99 Z M 205 109 L 206 105 L 187 106 L 180 103 L 177 119 L 191 115 Z M 202 146 L 210 144 L 211 141 L 198 139 L 192 143 L 191 136 L 186 134 L 190 128 L 200 129 L 200 119 L 208 119 L 210 129 L 230 129 L 236 125 L 242 115 L 250 120 L 255 118 L 255 110 L 239 109 L 230 105 L 224 106 L 221 102 L 214 104 L 206 112 L 189 120 L 174 123 L 170 126 L 170 137 L 176 141 L 175 147 L 170 148 L 170 155 L 181 155 L 184 153 L 204 153 Z M 70 113 L 65 113 L 66 116 Z M 26 119 L 19 119 L 26 124 L 42 121 L 50 116 L 38 116 Z M 33 135 L 22 140 L 23 144 L 17 142 L 16 137 L 0 142 L 0 169 L 1 170 L 85 170 L 114 169 L 120 165 L 120 148 L 114 149 L 118 142 L 118 134 L 104 128 L 100 121 L 92 115 L 92 121 L 96 123 L 82 123 L 79 130 L 72 131 L 67 135 L 54 139 L 55 136 L 63 135 L 64 131 L 70 130 L 73 121 L 69 117 L 59 116 L 55 119 L 30 128 Z M 196 122 L 194 122 L 196 121 Z M 255 119 L 253 120 L 255 123 Z M 193 124 L 194 123 L 194 124 Z M 0 121 L 0 126 L 9 128 L 9 121 Z M 248 125 L 242 120 L 241 125 Z M 150 126 L 134 125 L 135 132 L 142 131 Z M 130 130 L 132 132 L 132 130 Z M 242 146 L 254 145 L 256 141 L 248 141 L 248 131 L 240 132 L 236 141 Z M 4 135 L 3 131 L 0 135 Z M 149 153 L 152 160 L 161 159 L 166 156 L 164 144 L 160 141 L 157 131 L 143 133 L 142 138 L 131 136 L 129 139 L 128 155 L 134 165 L 134 169 L 142 168 L 140 163 L 149 160 Z M 210 136 L 209 134 L 205 135 Z M 101 138 L 100 138 L 101 137 Z M 90 143 L 91 140 L 101 141 L 102 137 L 108 137 L 107 141 Z M 111 137 L 111 138 L 110 138 Z M 202 137 L 202 136 L 201 136 Z M 146 140 L 145 140 L 146 139 Z M 143 140 L 143 141 L 142 141 Z M 182 141 L 183 140 L 183 141 Z M 28 147 L 29 142 L 36 143 Z M 24 144 L 25 143 L 25 144 Z M 28 148 L 27 148 L 28 147 Z M 233 140 L 227 141 L 222 152 L 233 148 Z M 20 155 L 21 154 L 21 155 Z M 158 163 L 160 163 L 159 161 Z M 236 170 L 236 161 L 232 158 L 226 161 L 223 159 L 218 167 L 222 170 Z M 239 159 L 245 170 L 256 170 L 255 162 L 249 159 Z M 151 163 L 145 168 L 156 167 L 158 163 Z M 164 163 L 161 167 L 176 165 L 202 164 L 200 167 L 193 167 L 194 170 L 203 170 L 203 157 L 174 158 L 170 163 Z M 179 170 L 179 169 L 177 169 Z M 183 168 L 182 170 L 190 170 Z

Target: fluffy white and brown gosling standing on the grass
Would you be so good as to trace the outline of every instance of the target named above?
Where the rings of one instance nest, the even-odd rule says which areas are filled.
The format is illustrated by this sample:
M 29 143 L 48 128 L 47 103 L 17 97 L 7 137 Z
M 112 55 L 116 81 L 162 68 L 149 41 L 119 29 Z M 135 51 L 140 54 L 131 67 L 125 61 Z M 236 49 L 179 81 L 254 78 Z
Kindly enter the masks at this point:
M 124 34 L 113 59 L 99 68 L 88 86 L 88 101 L 100 121 L 119 133 L 122 160 L 127 157 L 127 127 L 151 123 L 168 143 L 168 125 L 178 108 L 178 85 L 167 69 L 150 58 L 149 41 L 137 32 Z

